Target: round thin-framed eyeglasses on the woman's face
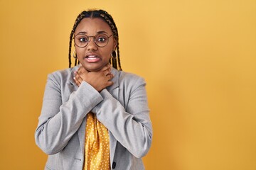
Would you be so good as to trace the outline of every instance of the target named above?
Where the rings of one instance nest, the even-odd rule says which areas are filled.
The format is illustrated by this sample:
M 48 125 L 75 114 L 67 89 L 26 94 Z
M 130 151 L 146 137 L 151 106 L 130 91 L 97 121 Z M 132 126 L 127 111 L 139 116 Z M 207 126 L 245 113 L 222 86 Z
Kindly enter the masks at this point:
M 113 34 L 112 34 L 113 35 Z M 78 34 L 74 37 L 75 45 L 78 47 L 86 47 L 90 42 L 89 38 L 93 38 L 95 45 L 98 47 L 105 47 L 109 41 L 109 38 L 112 36 L 107 36 L 107 34 L 100 33 L 95 36 L 87 36 L 85 34 Z

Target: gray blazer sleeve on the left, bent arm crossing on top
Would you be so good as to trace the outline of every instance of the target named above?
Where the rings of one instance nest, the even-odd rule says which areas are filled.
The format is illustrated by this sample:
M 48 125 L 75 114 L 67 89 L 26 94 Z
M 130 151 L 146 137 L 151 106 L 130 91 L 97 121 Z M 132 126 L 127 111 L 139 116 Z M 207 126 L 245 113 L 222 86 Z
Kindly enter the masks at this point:
M 63 103 L 60 81 L 59 75 L 48 75 L 35 132 L 36 145 L 46 154 L 60 152 L 77 132 L 85 115 L 103 100 L 100 93 L 83 81 L 78 90 Z

